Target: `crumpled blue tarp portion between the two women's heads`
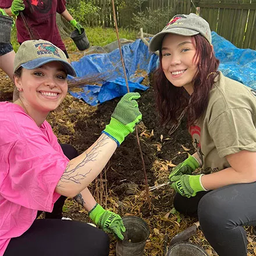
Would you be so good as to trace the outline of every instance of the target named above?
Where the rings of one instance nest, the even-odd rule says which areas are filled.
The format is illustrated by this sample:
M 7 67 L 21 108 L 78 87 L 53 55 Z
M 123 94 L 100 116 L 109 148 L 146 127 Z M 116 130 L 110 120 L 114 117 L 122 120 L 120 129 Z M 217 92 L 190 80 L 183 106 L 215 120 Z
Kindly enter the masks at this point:
M 140 83 L 145 74 L 155 70 L 158 56 L 150 54 L 148 47 L 141 40 L 123 45 L 122 54 L 130 91 L 147 90 L 148 87 Z M 84 56 L 80 61 L 72 62 L 72 66 L 79 77 L 94 76 L 104 79 L 99 82 L 102 86 L 85 85 L 83 91 L 70 91 L 74 97 L 82 98 L 90 105 L 94 106 L 127 93 L 119 49 L 108 54 Z

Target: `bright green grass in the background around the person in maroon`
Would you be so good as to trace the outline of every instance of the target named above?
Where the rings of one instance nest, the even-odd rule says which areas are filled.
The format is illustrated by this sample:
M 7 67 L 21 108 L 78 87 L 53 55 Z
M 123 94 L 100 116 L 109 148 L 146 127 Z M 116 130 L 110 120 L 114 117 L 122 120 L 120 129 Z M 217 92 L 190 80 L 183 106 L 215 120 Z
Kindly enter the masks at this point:
M 90 41 L 91 46 L 101 46 L 110 44 L 117 40 L 115 29 L 103 29 L 102 27 L 86 27 L 86 35 Z M 126 38 L 128 40 L 136 40 L 137 32 L 134 30 L 119 29 L 119 37 Z M 17 31 L 16 27 L 13 27 L 11 42 L 15 52 L 19 49 L 19 43 L 17 42 Z M 77 51 L 76 45 L 72 40 L 70 44 L 66 45 L 68 52 Z

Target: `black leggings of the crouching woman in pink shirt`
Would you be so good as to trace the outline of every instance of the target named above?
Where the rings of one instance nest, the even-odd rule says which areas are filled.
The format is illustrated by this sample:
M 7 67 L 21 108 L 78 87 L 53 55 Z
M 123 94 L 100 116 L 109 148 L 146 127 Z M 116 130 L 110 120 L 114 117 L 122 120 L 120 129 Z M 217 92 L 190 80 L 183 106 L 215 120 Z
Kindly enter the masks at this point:
M 61 144 L 67 158 L 78 153 L 74 147 Z M 77 221 L 62 221 L 62 207 L 66 197 L 55 202 L 46 219 L 36 219 L 22 236 L 10 240 L 3 256 L 106 256 L 109 254 L 109 237 L 96 227 Z M 41 212 L 38 211 L 38 215 Z

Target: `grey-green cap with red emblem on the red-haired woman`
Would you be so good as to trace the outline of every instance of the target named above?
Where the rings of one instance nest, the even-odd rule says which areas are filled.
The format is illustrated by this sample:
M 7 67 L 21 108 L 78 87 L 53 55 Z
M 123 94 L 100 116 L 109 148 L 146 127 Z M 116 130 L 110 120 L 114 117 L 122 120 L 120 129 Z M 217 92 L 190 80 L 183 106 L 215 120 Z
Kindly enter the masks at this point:
M 187 37 L 201 34 L 210 44 L 212 43 L 211 29 L 208 22 L 202 19 L 202 17 L 195 15 L 195 13 L 174 16 L 165 28 L 151 39 L 149 45 L 151 52 L 161 49 L 163 37 L 166 34 L 177 34 Z

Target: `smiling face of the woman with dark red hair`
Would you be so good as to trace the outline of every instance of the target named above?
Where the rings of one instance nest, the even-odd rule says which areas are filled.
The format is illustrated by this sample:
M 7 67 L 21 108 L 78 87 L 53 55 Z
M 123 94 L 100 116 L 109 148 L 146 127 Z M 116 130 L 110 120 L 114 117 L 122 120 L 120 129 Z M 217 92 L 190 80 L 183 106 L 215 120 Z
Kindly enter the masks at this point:
M 191 37 L 166 34 L 162 42 L 162 69 L 166 78 L 176 87 L 184 87 L 191 95 L 192 80 L 198 71 L 194 60 L 196 49 Z

